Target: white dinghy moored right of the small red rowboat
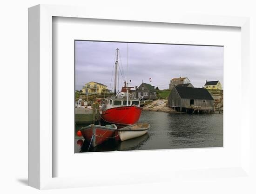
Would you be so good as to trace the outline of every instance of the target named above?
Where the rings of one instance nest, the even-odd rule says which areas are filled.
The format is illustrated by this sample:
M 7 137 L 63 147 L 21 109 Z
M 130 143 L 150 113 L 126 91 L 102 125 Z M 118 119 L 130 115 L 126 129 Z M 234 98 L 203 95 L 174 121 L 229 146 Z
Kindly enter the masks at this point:
M 135 123 L 127 127 L 117 129 L 121 141 L 133 139 L 135 137 L 143 136 L 148 132 L 150 124 L 148 123 Z

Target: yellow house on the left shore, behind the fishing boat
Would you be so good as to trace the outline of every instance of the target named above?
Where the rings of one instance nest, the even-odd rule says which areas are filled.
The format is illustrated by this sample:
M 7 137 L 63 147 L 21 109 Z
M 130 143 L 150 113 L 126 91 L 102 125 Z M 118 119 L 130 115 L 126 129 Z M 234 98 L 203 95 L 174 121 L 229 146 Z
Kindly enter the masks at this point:
M 82 93 L 85 94 L 101 94 L 104 92 L 109 92 L 108 86 L 98 82 L 88 82 L 82 88 Z

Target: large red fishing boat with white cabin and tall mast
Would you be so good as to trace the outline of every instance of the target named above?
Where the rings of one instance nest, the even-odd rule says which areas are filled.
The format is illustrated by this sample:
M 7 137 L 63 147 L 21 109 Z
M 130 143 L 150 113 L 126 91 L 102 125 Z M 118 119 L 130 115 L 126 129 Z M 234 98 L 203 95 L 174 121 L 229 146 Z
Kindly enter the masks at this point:
M 101 119 L 108 123 L 131 125 L 137 123 L 141 116 L 140 100 L 129 95 L 128 82 L 125 82 L 121 92 L 116 94 L 118 76 L 118 52 L 116 49 L 115 61 L 115 97 L 107 98 L 101 107 Z

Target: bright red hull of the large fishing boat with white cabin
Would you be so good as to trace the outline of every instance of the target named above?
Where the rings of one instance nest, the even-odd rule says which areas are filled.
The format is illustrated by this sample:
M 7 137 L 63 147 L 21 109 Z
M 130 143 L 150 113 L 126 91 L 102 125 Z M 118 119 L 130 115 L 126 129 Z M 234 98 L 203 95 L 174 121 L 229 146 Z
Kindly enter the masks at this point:
M 101 118 L 108 123 L 131 125 L 137 123 L 141 116 L 141 108 L 123 106 L 102 111 Z

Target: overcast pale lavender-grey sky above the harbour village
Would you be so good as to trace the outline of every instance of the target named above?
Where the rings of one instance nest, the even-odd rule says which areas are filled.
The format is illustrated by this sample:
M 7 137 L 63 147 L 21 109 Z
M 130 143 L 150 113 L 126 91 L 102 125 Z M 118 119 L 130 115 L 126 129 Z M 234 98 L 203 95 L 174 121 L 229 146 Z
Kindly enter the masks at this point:
M 128 73 L 127 73 L 128 44 Z M 132 86 L 143 80 L 168 89 L 172 78 L 187 77 L 194 87 L 202 87 L 207 81 L 219 80 L 223 86 L 223 47 L 196 45 L 162 45 L 116 42 L 75 42 L 75 89 L 90 81 L 99 82 L 114 90 L 115 49 L 119 48 L 125 76 Z M 112 78 L 112 81 L 111 81 Z M 119 72 L 119 90 L 123 79 Z M 111 84 L 111 86 L 110 86 Z

